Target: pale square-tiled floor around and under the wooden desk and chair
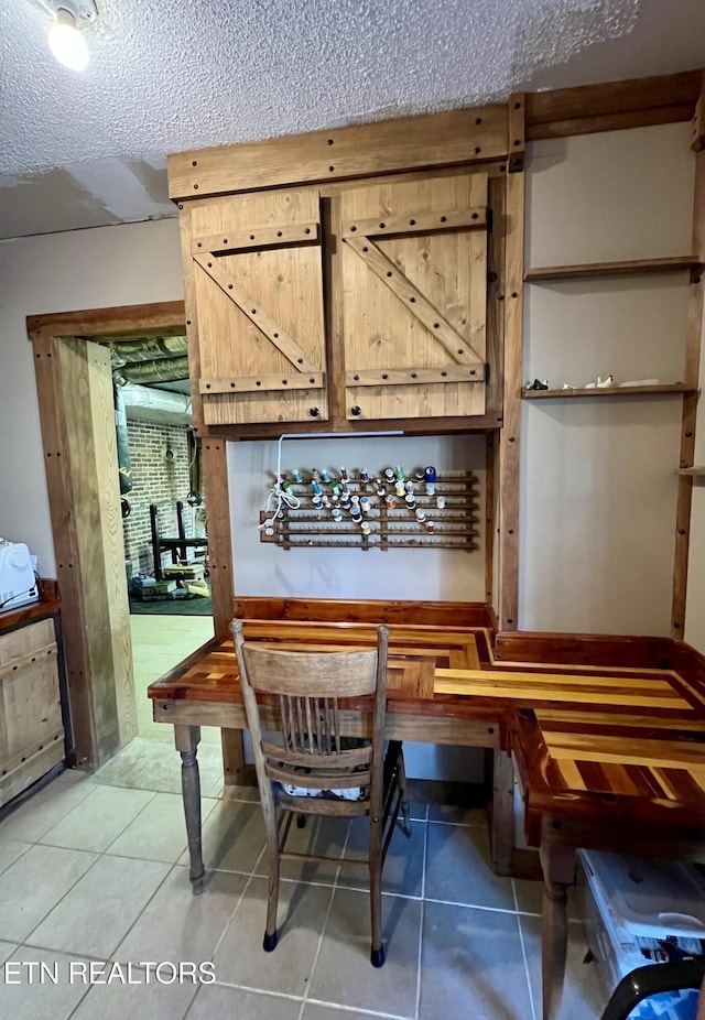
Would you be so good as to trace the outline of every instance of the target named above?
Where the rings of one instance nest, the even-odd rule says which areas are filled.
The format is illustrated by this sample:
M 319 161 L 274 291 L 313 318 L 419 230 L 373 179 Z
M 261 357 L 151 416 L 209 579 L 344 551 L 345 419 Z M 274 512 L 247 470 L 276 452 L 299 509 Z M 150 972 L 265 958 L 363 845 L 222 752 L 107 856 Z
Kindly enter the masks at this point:
M 0 822 L 0 963 L 19 965 L 0 967 L 1 1017 L 540 1017 L 540 890 L 492 875 L 481 812 L 414 805 L 411 838 L 394 835 L 381 970 L 369 964 L 365 878 L 337 866 L 288 866 L 280 944 L 264 954 L 259 805 L 249 789 L 224 793 L 217 748 L 203 747 L 199 758 L 208 883 L 198 898 L 178 757 L 160 740 L 138 738 L 94 777 L 63 773 Z M 359 821 L 338 820 L 294 836 L 334 855 L 354 853 L 361 838 Z M 596 1020 L 604 1007 L 584 955 L 574 921 L 563 1020 Z M 42 981 L 30 967 L 40 963 L 48 967 Z M 122 969 L 105 984 L 113 963 Z M 180 965 L 203 963 L 215 983 L 194 984 L 188 968 L 174 979 Z M 90 964 L 104 984 L 84 983 L 79 968 Z M 47 979 L 54 967 L 58 984 Z

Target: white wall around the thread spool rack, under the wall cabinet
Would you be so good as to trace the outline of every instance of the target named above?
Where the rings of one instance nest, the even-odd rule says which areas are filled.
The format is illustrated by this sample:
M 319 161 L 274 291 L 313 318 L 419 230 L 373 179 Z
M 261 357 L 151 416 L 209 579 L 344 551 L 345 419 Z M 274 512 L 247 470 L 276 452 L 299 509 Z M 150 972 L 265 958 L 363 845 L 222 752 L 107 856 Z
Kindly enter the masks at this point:
M 278 443 L 229 443 L 235 589 L 238 595 L 308 598 L 459 599 L 485 601 L 485 437 L 369 436 L 284 440 L 281 467 L 339 471 L 341 465 L 379 475 L 400 464 L 406 474 L 471 470 L 480 481 L 479 545 L 456 550 L 292 549 L 261 543 L 259 512 L 272 487 Z

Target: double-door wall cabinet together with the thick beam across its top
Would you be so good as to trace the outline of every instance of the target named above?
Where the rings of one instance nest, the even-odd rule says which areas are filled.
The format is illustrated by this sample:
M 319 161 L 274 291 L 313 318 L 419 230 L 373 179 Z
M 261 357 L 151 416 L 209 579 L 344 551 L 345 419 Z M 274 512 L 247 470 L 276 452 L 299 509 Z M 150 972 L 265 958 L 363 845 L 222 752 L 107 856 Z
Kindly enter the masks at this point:
M 170 156 L 196 426 L 498 427 L 508 130 L 496 106 Z

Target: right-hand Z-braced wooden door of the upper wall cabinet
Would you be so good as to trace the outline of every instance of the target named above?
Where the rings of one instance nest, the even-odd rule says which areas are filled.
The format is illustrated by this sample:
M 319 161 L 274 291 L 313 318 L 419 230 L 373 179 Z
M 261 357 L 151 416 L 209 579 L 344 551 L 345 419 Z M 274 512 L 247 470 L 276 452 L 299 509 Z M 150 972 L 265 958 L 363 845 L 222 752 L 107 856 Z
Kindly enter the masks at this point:
M 485 413 L 487 175 L 345 191 L 346 416 Z

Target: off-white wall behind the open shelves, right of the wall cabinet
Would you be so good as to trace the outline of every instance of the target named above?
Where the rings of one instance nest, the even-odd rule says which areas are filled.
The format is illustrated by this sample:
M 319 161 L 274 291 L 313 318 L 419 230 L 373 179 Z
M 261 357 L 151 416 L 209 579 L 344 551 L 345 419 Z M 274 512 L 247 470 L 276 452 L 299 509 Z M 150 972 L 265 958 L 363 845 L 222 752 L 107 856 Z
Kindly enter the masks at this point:
M 685 123 L 534 143 L 527 267 L 687 254 L 693 174 Z M 524 300 L 524 381 L 682 380 L 687 273 Z M 523 403 L 522 630 L 670 632 L 680 423 L 680 397 Z

